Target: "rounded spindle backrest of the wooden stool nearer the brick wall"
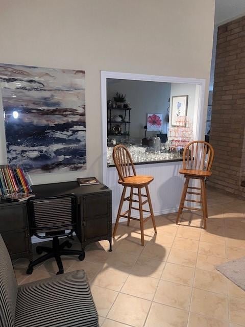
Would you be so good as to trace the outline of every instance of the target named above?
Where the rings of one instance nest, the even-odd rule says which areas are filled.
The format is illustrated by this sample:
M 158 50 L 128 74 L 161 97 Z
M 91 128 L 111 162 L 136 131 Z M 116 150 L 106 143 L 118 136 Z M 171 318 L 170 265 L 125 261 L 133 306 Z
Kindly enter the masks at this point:
M 183 152 L 183 169 L 210 171 L 214 151 L 211 144 L 204 141 L 193 141 L 187 144 Z

